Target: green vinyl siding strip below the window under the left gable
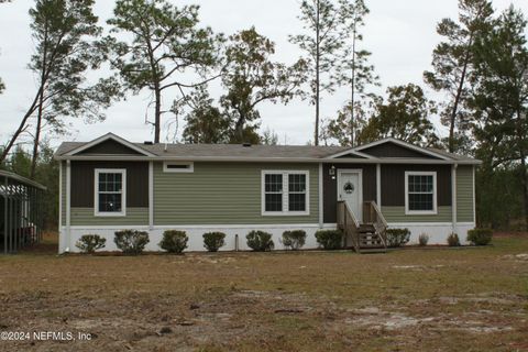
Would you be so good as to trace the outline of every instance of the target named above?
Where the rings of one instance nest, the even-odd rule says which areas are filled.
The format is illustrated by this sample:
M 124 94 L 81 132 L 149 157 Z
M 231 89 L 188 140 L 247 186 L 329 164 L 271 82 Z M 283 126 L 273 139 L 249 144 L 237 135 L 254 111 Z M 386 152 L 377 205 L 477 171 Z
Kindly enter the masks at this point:
M 72 208 L 72 226 L 148 226 L 148 208 L 127 208 L 125 217 L 96 217 L 94 208 Z

